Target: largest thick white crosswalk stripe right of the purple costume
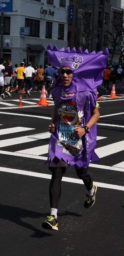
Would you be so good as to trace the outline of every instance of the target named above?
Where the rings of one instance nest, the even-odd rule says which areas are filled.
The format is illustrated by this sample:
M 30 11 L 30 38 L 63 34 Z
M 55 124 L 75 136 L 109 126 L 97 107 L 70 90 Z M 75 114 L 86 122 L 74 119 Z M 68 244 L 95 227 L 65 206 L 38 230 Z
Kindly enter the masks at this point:
M 98 154 L 99 158 L 102 158 L 123 150 L 124 150 L 124 140 L 120 142 L 112 143 L 103 147 L 96 148 L 95 153 Z

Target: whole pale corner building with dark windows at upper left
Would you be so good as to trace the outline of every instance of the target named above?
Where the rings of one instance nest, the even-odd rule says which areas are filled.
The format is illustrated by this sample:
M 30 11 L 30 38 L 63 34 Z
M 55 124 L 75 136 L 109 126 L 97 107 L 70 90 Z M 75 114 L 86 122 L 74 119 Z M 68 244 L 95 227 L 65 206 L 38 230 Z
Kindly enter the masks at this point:
M 49 43 L 67 48 L 69 0 L 13 0 L 4 13 L 3 59 L 47 64 Z

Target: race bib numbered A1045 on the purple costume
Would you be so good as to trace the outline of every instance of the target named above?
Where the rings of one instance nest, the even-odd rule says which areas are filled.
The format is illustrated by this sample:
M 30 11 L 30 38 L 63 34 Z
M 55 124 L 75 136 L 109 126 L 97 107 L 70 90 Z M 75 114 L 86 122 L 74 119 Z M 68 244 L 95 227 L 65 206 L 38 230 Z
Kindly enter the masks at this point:
M 71 125 L 59 125 L 59 142 L 76 149 L 82 148 L 82 139 L 74 135 L 74 127 Z

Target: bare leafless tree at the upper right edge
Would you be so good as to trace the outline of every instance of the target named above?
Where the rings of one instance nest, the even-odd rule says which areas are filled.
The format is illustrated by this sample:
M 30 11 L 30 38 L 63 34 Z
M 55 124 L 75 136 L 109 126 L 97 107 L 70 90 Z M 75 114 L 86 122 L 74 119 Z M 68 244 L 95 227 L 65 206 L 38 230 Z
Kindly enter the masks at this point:
M 113 10 L 111 18 L 109 18 L 110 22 L 110 30 L 105 30 L 105 33 L 108 34 L 108 43 L 107 46 L 111 48 L 111 60 L 110 64 L 112 64 L 113 57 L 115 55 L 116 50 L 120 52 L 119 64 L 122 62 L 122 57 L 124 53 L 124 48 L 122 45 L 124 44 L 124 23 L 123 23 L 124 11 L 122 10 Z

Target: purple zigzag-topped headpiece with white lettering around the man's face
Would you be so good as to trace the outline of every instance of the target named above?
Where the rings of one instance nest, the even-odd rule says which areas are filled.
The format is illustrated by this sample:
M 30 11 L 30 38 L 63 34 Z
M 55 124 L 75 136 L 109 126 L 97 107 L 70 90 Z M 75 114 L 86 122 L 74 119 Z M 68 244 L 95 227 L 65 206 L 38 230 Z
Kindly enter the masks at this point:
M 54 45 L 52 49 L 49 44 L 47 54 L 55 68 L 69 67 L 73 71 L 72 82 L 79 87 L 78 91 L 97 91 L 97 87 L 102 84 L 102 75 L 108 59 L 107 48 L 104 52 L 89 53 L 87 49 L 82 52 L 81 48 L 76 51 L 75 47 L 71 51 L 69 47 L 66 50 L 58 50 Z

